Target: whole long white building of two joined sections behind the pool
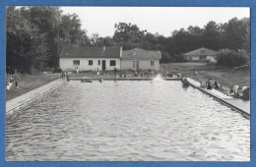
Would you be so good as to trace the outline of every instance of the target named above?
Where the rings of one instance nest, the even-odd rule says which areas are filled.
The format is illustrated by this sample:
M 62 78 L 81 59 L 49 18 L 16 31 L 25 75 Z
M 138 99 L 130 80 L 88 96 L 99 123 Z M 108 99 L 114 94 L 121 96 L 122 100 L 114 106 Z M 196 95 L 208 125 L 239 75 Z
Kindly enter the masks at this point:
M 160 70 L 160 51 L 122 47 L 65 47 L 59 56 L 62 70 Z

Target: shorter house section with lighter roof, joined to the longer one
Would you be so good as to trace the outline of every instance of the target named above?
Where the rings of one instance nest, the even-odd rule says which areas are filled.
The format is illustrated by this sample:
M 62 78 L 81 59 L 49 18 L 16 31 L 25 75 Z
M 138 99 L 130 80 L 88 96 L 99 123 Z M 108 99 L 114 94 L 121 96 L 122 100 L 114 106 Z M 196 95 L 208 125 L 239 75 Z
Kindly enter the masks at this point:
M 160 70 L 160 51 L 134 48 L 123 50 L 121 70 Z

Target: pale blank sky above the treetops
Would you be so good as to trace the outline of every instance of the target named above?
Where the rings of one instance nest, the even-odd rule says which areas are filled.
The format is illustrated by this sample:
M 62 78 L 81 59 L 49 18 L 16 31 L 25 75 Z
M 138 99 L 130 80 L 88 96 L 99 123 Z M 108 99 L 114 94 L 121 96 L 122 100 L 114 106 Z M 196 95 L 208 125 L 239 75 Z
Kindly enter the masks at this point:
M 224 24 L 234 17 L 250 17 L 250 9 L 244 7 L 61 7 L 61 10 L 63 14 L 77 14 L 89 36 L 98 33 L 102 37 L 112 36 L 114 25 L 120 22 L 170 36 L 175 29 L 204 28 L 210 21 Z

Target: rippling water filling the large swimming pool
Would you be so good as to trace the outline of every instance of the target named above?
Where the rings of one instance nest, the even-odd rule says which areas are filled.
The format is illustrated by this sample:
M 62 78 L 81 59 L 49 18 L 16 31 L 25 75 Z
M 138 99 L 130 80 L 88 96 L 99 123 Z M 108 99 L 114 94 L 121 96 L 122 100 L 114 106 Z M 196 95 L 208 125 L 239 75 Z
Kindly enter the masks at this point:
M 178 81 L 71 81 L 6 118 L 14 161 L 249 161 L 250 122 Z

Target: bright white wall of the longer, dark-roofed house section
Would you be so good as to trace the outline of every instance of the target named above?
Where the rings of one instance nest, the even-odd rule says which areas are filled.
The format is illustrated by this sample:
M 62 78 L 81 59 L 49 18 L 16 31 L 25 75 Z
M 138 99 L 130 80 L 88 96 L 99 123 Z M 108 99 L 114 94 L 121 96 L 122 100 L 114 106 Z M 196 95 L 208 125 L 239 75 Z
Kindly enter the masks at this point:
M 73 60 L 80 60 L 80 65 L 74 65 Z M 93 65 L 89 65 L 89 60 L 93 60 Z M 97 61 L 100 60 L 100 65 L 98 65 Z M 60 58 L 60 68 L 62 70 L 75 70 L 77 67 L 80 71 L 99 71 L 102 70 L 102 60 L 105 60 L 106 70 L 120 70 L 120 59 L 116 58 L 105 58 L 105 59 L 88 59 L 88 58 Z M 110 60 L 115 60 L 115 66 L 110 66 Z

